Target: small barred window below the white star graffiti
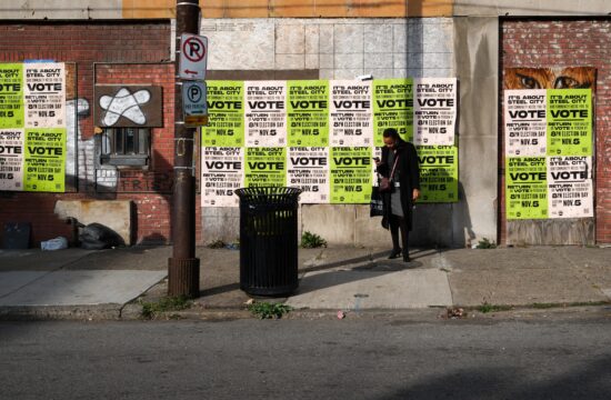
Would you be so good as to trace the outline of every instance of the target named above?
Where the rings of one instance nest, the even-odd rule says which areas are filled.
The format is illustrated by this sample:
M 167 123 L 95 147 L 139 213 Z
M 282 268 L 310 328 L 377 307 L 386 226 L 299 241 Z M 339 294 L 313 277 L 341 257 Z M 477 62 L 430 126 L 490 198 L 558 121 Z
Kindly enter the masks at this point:
M 148 166 L 149 128 L 107 128 L 102 131 L 100 163 L 110 166 Z

